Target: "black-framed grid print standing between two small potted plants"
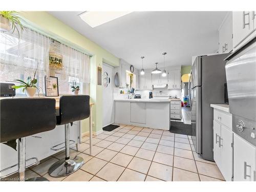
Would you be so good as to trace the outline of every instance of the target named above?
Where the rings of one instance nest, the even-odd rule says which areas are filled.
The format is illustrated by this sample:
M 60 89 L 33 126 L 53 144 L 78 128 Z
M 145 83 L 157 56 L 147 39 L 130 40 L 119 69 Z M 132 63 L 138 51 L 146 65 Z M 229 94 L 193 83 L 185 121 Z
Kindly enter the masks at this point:
M 46 97 L 59 96 L 58 77 L 45 76 Z

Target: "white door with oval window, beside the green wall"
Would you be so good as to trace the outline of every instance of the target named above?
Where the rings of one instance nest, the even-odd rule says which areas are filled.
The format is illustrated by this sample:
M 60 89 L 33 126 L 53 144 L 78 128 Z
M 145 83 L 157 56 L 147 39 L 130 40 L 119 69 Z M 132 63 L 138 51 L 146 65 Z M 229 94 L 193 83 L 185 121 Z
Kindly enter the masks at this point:
M 103 63 L 102 70 L 102 126 L 114 123 L 113 76 L 114 68 Z

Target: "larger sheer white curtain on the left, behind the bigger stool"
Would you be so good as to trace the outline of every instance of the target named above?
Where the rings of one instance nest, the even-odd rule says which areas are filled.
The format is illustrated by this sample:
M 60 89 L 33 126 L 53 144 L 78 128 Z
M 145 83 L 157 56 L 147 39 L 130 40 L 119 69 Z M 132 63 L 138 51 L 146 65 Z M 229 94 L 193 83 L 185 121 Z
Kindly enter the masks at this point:
M 1 32 L 1 81 L 25 78 L 36 69 L 38 78 L 48 76 L 49 48 L 50 38 L 36 31 L 25 28 L 20 38 L 16 31 Z

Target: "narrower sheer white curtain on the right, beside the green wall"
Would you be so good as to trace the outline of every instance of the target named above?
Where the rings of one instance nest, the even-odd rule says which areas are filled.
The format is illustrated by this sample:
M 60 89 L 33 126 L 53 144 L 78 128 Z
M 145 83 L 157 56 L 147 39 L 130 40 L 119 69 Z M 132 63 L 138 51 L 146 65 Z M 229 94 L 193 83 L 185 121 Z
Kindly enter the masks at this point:
M 90 82 L 90 56 L 60 44 L 63 70 L 60 71 L 68 81 Z M 58 72 L 59 73 L 59 72 Z

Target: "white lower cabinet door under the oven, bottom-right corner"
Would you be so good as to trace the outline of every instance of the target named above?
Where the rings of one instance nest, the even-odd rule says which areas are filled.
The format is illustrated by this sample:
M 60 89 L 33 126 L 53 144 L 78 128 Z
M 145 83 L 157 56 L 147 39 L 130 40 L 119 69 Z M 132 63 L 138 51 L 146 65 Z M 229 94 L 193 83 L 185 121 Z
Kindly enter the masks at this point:
M 234 134 L 234 181 L 255 181 L 255 147 Z

